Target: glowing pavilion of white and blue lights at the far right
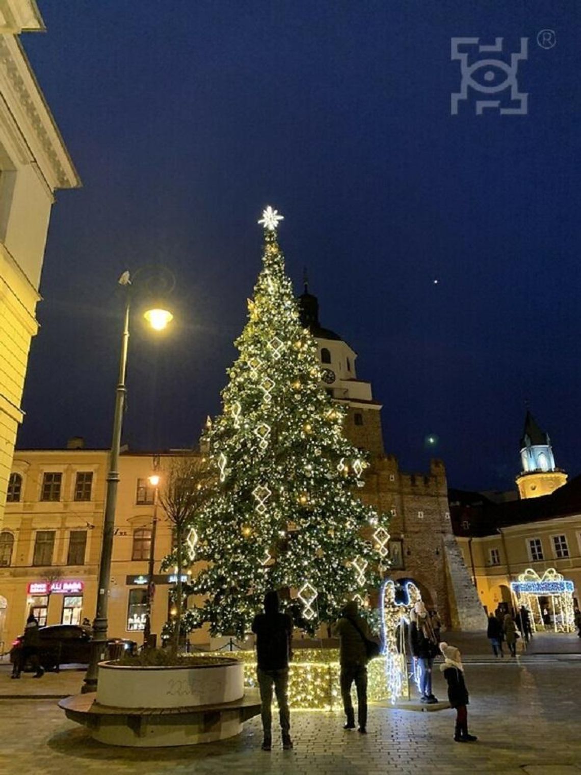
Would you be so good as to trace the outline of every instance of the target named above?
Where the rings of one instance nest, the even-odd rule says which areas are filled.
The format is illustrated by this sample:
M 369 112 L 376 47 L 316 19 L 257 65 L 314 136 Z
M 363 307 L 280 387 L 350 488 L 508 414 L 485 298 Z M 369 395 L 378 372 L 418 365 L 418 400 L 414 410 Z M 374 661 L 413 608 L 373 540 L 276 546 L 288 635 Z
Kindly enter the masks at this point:
M 531 611 L 532 628 L 545 629 L 539 598 L 548 598 L 555 632 L 575 632 L 573 608 L 573 583 L 559 574 L 555 568 L 548 568 L 542 576 L 536 570 L 527 568 L 517 581 L 511 581 L 511 591 L 517 605 L 524 605 Z

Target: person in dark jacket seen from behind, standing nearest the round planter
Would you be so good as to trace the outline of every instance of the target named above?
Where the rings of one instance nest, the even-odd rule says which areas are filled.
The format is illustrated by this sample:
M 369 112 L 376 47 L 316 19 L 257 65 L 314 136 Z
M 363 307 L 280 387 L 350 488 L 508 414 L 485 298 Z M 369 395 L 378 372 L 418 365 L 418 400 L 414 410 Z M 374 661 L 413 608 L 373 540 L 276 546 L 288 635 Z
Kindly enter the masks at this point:
M 273 686 L 277 694 L 283 748 L 293 747 L 290 739 L 290 711 L 288 707 L 288 662 L 292 658 L 293 622 L 289 615 L 278 610 L 278 594 L 266 592 L 264 613 L 255 616 L 252 630 L 256 635 L 257 676 L 260 687 L 260 715 L 263 721 L 263 751 L 272 749 Z

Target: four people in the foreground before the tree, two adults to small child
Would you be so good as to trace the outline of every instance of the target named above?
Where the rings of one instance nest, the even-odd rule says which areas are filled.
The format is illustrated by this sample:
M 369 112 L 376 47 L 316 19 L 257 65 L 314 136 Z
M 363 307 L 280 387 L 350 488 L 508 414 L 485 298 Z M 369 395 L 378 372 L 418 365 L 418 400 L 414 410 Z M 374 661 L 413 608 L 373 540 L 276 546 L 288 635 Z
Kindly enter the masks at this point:
M 256 635 L 257 678 L 260 687 L 260 715 L 263 722 L 263 751 L 272 749 L 272 701 L 277 696 L 283 749 L 293 747 L 290 738 L 290 710 L 288 704 L 288 665 L 292 659 L 293 623 L 289 615 L 280 612 L 276 591 L 264 598 L 264 612 L 256 615 L 252 630 Z M 411 654 L 418 665 L 421 702 L 438 702 L 431 691 L 431 670 L 436 656 L 443 656 L 440 670 L 448 684 L 448 698 L 456 708 L 456 742 L 473 742 L 468 732 L 469 702 L 464 682 L 464 667 L 459 649 L 439 641 L 440 622 L 418 601 L 411 612 L 409 630 Z M 346 722 L 343 729 L 358 729 L 367 733 L 367 663 L 370 655 L 379 653 L 379 642 L 370 631 L 366 620 L 359 616 L 356 601 L 350 601 L 332 629 L 339 638 L 340 686 Z M 357 726 L 351 698 L 355 683 L 357 693 Z

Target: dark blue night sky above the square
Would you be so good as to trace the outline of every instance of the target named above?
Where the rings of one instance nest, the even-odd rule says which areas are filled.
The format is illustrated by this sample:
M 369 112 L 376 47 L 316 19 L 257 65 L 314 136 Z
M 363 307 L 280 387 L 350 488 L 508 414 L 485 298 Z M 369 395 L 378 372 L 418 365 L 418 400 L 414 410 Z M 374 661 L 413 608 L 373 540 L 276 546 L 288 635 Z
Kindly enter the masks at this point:
M 452 486 L 513 487 L 528 400 L 557 465 L 581 472 L 578 3 L 39 5 L 47 33 L 21 40 L 84 188 L 53 208 L 20 448 L 108 446 L 117 279 L 159 261 L 177 324 L 153 340 L 134 320 L 124 440 L 197 441 L 270 204 L 297 293 L 306 265 L 404 470 L 440 456 Z M 480 94 L 450 115 L 452 36 L 509 52 L 528 37 L 528 115 L 475 115 Z

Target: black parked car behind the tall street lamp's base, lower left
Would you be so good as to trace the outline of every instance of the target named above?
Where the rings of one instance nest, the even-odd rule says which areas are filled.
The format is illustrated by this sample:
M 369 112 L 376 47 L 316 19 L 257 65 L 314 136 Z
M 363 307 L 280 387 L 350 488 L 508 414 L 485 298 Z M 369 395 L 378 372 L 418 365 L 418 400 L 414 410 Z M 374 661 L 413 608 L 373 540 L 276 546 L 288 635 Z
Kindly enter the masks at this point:
M 50 625 L 41 627 L 40 664 L 45 670 L 58 670 L 60 665 L 71 663 L 88 664 L 91 656 L 92 631 L 84 625 Z M 20 638 L 15 639 L 10 651 L 10 661 L 15 661 L 15 652 L 22 646 Z M 109 638 L 107 648 L 115 659 L 124 652 L 135 654 L 137 643 L 125 638 Z M 26 666 L 25 666 L 26 670 Z

